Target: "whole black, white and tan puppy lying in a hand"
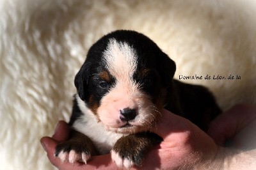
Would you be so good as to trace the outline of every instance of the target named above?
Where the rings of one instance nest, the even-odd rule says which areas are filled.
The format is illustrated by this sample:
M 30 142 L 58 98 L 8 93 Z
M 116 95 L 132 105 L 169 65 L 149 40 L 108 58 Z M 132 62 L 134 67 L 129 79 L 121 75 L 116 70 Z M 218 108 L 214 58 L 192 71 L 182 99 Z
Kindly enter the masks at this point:
M 150 133 L 161 108 L 207 130 L 220 108 L 206 88 L 173 79 L 175 69 L 172 59 L 141 33 L 120 30 L 100 38 L 76 75 L 72 132 L 55 156 L 86 163 L 110 151 L 119 167 L 141 166 L 147 151 L 161 142 Z

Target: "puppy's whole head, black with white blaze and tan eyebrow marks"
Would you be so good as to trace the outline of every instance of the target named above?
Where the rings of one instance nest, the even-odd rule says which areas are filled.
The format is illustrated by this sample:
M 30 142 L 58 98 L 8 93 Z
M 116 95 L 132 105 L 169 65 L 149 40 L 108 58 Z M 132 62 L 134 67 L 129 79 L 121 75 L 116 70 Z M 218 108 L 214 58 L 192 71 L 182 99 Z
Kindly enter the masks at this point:
M 174 73 L 175 63 L 147 36 L 115 31 L 92 45 L 75 84 L 106 128 L 134 133 L 156 121 Z

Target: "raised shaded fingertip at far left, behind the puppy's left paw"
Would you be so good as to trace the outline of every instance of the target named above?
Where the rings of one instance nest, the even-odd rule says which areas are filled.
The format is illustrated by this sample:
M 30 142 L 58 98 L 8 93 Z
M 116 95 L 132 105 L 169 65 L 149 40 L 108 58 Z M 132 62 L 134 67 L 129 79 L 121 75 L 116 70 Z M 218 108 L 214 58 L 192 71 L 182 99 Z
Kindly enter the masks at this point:
M 58 142 L 67 141 L 68 135 L 70 132 L 70 127 L 65 121 L 59 121 L 58 125 L 56 126 L 54 135 L 52 135 L 52 138 L 55 139 Z

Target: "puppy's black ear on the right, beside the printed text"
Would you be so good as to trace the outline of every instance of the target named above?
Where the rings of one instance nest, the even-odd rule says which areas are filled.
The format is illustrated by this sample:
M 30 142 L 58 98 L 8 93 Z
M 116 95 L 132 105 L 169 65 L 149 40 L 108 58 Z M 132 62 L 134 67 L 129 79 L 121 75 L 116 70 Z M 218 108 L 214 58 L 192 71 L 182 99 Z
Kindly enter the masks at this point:
M 176 71 L 175 62 L 170 59 L 165 53 L 159 58 L 159 74 L 161 78 L 161 82 L 164 87 L 170 86 L 174 73 Z

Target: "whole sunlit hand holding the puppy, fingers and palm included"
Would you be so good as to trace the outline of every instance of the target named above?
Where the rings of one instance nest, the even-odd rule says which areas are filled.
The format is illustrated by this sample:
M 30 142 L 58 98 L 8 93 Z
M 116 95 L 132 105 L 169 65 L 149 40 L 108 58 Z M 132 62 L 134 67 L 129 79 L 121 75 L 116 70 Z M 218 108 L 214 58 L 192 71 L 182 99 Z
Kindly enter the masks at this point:
M 164 141 L 153 148 L 143 160 L 142 167 L 136 169 L 193 169 L 210 164 L 217 153 L 214 141 L 190 121 L 163 109 L 156 128 L 152 132 L 163 137 Z M 52 137 L 43 137 L 44 146 L 51 163 L 59 169 L 117 169 L 110 154 L 92 157 L 88 164 L 61 163 L 54 157 L 56 145 L 68 138 L 68 125 L 60 121 Z

